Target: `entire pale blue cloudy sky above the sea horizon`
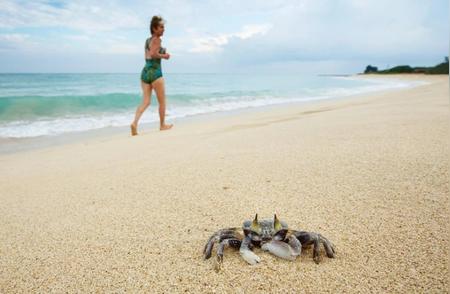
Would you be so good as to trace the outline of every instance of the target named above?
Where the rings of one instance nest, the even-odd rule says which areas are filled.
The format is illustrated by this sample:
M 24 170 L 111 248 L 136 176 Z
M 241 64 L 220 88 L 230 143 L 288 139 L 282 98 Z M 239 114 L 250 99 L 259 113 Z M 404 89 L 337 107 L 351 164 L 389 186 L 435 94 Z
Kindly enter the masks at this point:
M 0 72 L 138 73 L 153 15 L 171 73 L 357 73 L 449 55 L 448 0 L 0 0 Z

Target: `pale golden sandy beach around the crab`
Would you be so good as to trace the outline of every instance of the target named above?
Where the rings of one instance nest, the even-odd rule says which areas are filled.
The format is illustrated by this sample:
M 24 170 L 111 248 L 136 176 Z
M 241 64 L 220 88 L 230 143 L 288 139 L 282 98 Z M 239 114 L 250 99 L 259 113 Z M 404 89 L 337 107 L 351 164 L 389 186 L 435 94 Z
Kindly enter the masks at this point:
M 449 80 L 395 78 L 429 84 L 0 155 L 0 292 L 448 293 Z M 216 273 L 206 240 L 256 212 L 336 258 Z

